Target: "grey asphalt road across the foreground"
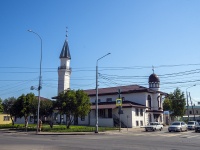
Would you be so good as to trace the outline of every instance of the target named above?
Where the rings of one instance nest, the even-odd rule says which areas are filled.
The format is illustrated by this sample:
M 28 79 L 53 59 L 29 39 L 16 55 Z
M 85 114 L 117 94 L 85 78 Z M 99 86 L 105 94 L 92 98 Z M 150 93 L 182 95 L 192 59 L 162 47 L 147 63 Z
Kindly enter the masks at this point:
M 200 133 L 126 131 L 56 135 L 0 131 L 0 150 L 199 150 Z

